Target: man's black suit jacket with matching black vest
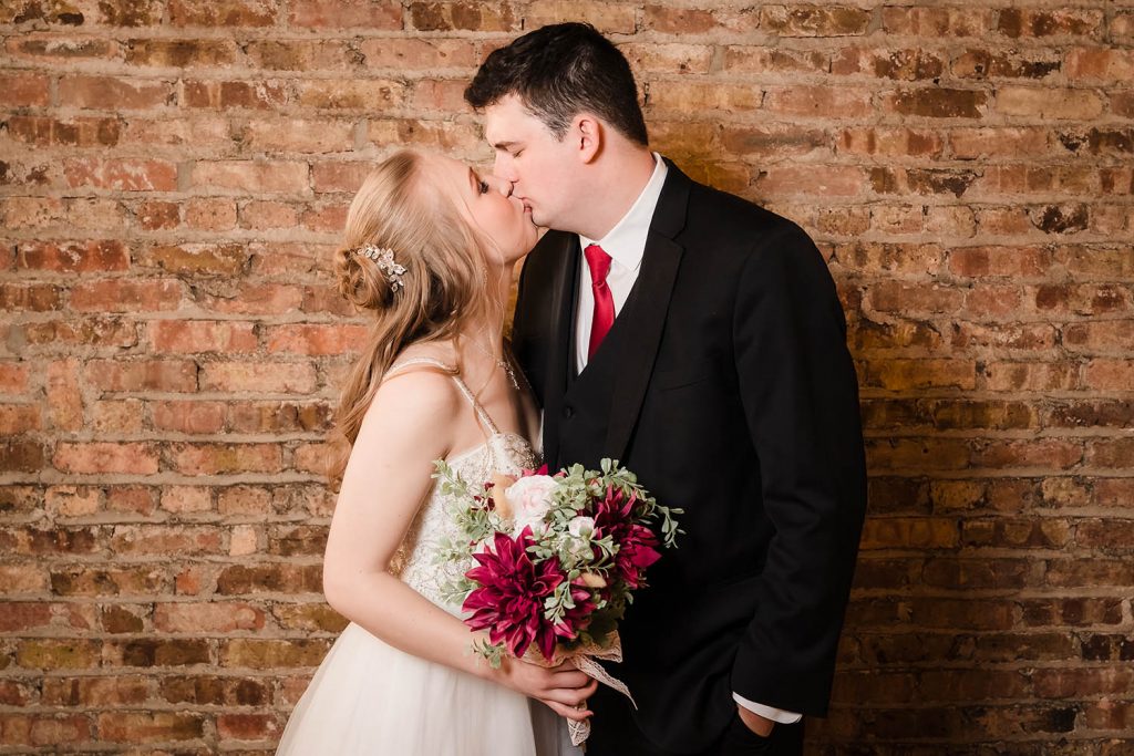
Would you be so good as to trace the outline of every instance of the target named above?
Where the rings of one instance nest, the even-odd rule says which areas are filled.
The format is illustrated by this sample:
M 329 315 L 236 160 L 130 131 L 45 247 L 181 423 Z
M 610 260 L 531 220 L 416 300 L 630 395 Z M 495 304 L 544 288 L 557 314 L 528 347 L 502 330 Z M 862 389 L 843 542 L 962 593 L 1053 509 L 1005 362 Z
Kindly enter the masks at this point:
M 669 163 L 638 279 L 576 375 L 579 254 L 574 233 L 540 240 L 513 346 L 552 469 L 620 459 L 685 509 L 686 534 L 621 627 L 615 673 L 635 725 L 692 751 L 728 725 L 733 691 L 824 714 L 866 496 L 857 382 L 822 256 L 790 221 Z

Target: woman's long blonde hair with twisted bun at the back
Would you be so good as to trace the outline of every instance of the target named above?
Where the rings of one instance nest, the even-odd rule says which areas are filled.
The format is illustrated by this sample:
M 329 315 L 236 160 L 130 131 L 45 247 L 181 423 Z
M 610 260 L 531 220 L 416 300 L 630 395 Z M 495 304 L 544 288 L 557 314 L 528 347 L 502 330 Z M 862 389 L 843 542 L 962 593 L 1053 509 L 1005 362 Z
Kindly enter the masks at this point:
M 336 413 L 335 431 L 350 445 L 382 377 L 406 347 L 457 340 L 467 323 L 491 309 L 484 240 L 460 214 L 456 197 L 432 186 L 423 168 L 423 156 L 411 150 L 382 161 L 350 203 L 344 246 L 335 255 L 339 292 L 375 314 Z M 406 269 L 401 288 L 391 286 L 376 261 L 358 254 L 367 244 L 393 249 Z M 341 477 L 348 456 L 349 447 L 332 464 L 332 478 Z

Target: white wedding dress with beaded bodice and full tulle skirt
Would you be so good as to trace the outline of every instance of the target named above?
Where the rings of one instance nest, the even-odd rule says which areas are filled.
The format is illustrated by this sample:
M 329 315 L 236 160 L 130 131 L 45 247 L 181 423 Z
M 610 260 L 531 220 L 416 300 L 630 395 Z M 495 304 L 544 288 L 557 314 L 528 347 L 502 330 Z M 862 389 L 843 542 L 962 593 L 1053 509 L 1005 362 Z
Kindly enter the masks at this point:
M 441 363 L 407 359 L 412 364 Z M 466 481 L 488 481 L 493 470 L 518 475 L 536 465 L 523 438 L 500 433 L 468 387 L 454 376 L 472 402 L 488 440 L 448 458 Z M 441 586 L 472 564 L 438 563 L 446 535 L 457 535 L 446 498 L 434 485 L 406 533 L 392 564 L 403 581 L 450 614 Z M 387 645 L 349 623 L 315 672 L 284 731 L 285 756 L 579 756 L 566 721 L 544 704 L 503 686 Z

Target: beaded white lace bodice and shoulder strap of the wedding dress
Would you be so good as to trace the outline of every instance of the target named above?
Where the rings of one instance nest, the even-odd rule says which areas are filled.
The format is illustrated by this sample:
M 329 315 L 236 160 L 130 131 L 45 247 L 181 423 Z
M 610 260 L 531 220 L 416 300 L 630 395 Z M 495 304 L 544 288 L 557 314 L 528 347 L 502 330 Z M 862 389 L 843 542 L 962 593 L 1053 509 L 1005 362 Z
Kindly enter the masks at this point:
M 423 357 L 406 360 L 391 368 L 390 372 L 418 362 L 445 367 L 440 363 Z M 452 379 L 460 392 L 473 405 L 489 435 L 484 443 L 446 459 L 449 467 L 469 483 L 486 482 L 491 479 L 492 473 L 519 475 L 524 469 L 536 467 L 539 457 L 531 444 L 515 433 L 500 433 L 464 381 L 457 375 L 454 375 Z M 442 586 L 463 576 L 473 567 L 473 563 L 439 562 L 437 559 L 447 538 L 460 537 L 460 533 L 449 513 L 448 504 L 449 499 L 441 495 L 439 486 L 434 483 L 429 499 L 406 530 L 406 537 L 398 549 L 391 568 L 414 591 L 450 614 L 459 617 L 460 606 L 446 602 Z

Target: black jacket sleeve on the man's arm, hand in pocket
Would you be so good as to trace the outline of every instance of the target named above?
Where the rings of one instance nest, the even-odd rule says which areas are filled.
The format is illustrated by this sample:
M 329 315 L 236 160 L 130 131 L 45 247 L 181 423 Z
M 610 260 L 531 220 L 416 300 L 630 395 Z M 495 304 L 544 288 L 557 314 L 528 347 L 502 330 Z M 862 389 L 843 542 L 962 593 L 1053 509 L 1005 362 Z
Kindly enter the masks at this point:
M 764 233 L 739 277 L 736 369 L 775 526 L 733 690 L 823 715 L 865 512 L 858 390 L 846 321 L 798 227 Z

